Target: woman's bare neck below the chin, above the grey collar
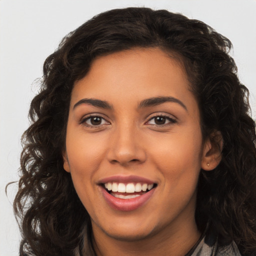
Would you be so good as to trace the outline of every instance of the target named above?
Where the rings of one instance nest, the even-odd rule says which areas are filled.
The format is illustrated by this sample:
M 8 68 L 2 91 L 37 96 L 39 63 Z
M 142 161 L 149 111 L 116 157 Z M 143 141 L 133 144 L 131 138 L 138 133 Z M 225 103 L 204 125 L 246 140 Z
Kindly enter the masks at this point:
M 97 256 L 148 256 L 185 255 L 198 241 L 200 232 L 195 221 L 178 226 L 166 226 L 147 237 L 134 240 L 118 240 L 110 237 L 92 222 L 93 247 Z

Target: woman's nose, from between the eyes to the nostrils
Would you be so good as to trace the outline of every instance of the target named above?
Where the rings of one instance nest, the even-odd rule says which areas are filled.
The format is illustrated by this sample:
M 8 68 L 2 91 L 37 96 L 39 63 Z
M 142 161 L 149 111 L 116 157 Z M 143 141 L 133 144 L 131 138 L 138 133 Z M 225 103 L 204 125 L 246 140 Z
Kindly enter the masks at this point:
M 146 152 L 138 128 L 132 125 L 116 128 L 109 138 L 107 158 L 109 162 L 123 166 L 144 162 Z

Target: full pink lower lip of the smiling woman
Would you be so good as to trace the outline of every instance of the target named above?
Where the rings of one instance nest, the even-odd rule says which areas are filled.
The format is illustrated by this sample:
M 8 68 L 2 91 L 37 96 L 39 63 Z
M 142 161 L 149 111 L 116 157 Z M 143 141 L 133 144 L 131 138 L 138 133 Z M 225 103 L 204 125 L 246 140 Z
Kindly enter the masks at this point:
M 113 195 L 109 194 L 103 187 L 101 187 L 102 194 L 106 200 L 106 202 L 115 210 L 121 211 L 131 211 L 141 207 L 145 204 L 153 195 L 155 188 L 152 188 L 148 192 L 137 196 L 135 198 L 129 199 L 122 199 L 114 197 Z

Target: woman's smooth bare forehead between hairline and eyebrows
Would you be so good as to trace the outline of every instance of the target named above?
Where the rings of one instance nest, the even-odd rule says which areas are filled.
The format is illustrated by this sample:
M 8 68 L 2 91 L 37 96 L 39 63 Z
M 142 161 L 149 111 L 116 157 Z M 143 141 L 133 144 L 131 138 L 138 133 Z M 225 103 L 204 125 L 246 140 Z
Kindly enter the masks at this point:
M 71 105 L 84 97 L 130 103 L 154 96 L 194 100 L 177 58 L 159 48 L 135 48 L 94 59 L 88 73 L 75 82 Z

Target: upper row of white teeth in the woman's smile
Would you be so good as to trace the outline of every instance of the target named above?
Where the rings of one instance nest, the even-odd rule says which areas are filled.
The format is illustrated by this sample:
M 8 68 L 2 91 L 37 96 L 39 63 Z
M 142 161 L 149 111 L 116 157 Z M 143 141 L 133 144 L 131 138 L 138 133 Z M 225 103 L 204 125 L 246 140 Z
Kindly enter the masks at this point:
M 107 182 L 104 183 L 105 188 L 108 191 L 112 192 L 121 192 L 121 193 L 134 193 L 134 192 L 141 192 L 141 191 L 146 191 L 150 190 L 153 187 L 153 184 L 146 184 L 143 183 L 127 183 L 126 185 L 124 183 L 117 183 L 117 182 Z

